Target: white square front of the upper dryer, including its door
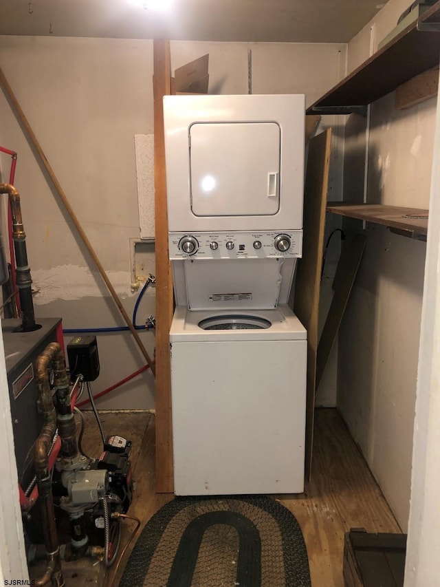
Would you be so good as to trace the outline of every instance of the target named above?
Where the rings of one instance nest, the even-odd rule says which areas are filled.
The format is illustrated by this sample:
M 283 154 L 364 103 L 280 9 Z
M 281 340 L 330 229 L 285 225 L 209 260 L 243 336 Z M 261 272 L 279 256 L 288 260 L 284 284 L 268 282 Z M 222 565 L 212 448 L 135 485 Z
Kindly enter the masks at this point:
M 206 126 L 206 132 L 203 131 Z M 217 127 L 217 125 L 221 125 Z M 289 231 L 303 228 L 303 184 L 304 184 L 304 142 L 305 142 L 305 96 L 289 95 L 241 95 L 241 96 L 165 96 L 164 97 L 164 131 L 166 151 L 166 185 L 168 205 L 168 230 L 171 232 L 201 231 Z M 191 138 L 191 129 L 200 129 L 201 136 Z M 268 147 L 261 144 L 260 130 L 256 145 L 245 147 L 241 152 L 239 129 L 271 128 Z M 279 140 L 276 140 L 276 129 L 279 129 Z M 212 140 L 208 129 L 215 129 Z M 216 162 L 217 151 L 223 160 L 228 153 L 226 131 L 232 131 L 229 140 L 231 153 L 234 153 L 232 166 Z M 208 180 L 205 189 L 197 186 L 196 180 L 190 178 L 192 166 L 192 141 L 195 140 L 196 162 L 194 173 L 198 182 Z M 246 145 L 251 139 L 245 139 Z M 281 142 L 281 146 L 280 146 Z M 221 148 L 219 148 L 219 144 Z M 203 147 L 205 146 L 203 152 Z M 256 149 L 255 147 L 258 147 Z M 260 174 L 261 159 L 259 149 L 269 162 L 264 164 Z M 272 153 L 274 149 L 274 153 Z M 212 164 L 210 160 L 212 158 Z M 245 169 L 250 176 L 250 168 L 254 158 L 254 173 L 259 178 L 259 186 L 265 184 L 265 198 L 258 196 L 249 189 L 243 189 L 245 180 L 234 177 L 237 169 Z M 277 164 L 277 160 L 279 163 Z M 214 165 L 214 167 L 212 167 Z M 273 167 L 273 169 L 272 169 Z M 215 177 L 209 178 L 210 169 L 214 169 Z M 279 175 L 276 173 L 279 171 Z M 212 175 L 211 173 L 211 175 Z M 203 175 L 206 174 L 206 175 Z M 219 175 L 221 174 L 221 175 Z M 264 175 L 264 179 L 261 176 Z M 225 195 L 225 207 L 217 200 L 207 197 L 213 180 L 219 185 L 228 187 Z M 251 185 L 254 185 L 251 180 Z M 208 192 L 206 187 L 208 186 Z M 240 186 L 240 189 L 237 189 Z M 196 188 L 198 191 L 196 190 Z M 191 189 L 196 193 L 191 196 Z M 260 189 L 260 188 L 259 188 Z M 222 192 L 223 193 L 223 192 Z M 193 198 L 193 201 L 191 200 Z M 237 200 L 245 198 L 251 206 Z M 255 198 L 255 199 L 254 199 Z M 248 200 L 250 199 L 250 201 Z M 278 200 L 278 202 L 277 202 Z M 264 202 L 264 206 L 263 206 Z M 228 213 L 227 206 L 230 207 Z M 229 215 L 228 215 L 229 214 Z

